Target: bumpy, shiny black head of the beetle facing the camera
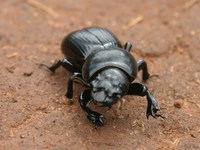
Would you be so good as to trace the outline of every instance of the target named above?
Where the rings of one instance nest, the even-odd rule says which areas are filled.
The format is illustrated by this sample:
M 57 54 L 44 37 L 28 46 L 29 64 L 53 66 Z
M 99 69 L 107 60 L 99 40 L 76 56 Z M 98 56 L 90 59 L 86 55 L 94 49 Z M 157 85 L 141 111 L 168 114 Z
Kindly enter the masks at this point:
M 111 106 L 126 94 L 129 84 L 123 71 L 117 68 L 108 68 L 100 72 L 91 82 L 91 96 L 102 106 Z

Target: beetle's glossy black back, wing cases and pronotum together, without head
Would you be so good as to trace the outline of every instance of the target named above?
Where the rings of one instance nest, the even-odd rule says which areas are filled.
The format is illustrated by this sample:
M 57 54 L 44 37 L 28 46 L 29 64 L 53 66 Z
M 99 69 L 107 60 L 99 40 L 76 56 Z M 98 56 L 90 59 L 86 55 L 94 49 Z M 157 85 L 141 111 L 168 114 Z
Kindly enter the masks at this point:
M 82 70 L 85 81 L 108 67 L 123 70 L 130 82 L 136 78 L 137 64 L 134 57 L 104 28 L 86 28 L 70 33 L 64 38 L 61 50 L 73 65 Z

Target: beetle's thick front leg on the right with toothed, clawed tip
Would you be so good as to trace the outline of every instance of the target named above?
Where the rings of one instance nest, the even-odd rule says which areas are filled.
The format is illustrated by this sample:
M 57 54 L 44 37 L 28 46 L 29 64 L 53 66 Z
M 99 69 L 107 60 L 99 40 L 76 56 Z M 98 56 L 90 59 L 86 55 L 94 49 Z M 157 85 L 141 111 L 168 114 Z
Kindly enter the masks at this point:
M 158 102 L 155 97 L 149 92 L 147 87 L 141 83 L 132 83 L 130 85 L 129 91 L 127 95 L 138 95 L 138 96 L 146 96 L 147 97 L 147 118 L 149 115 L 156 117 L 156 112 L 159 110 Z

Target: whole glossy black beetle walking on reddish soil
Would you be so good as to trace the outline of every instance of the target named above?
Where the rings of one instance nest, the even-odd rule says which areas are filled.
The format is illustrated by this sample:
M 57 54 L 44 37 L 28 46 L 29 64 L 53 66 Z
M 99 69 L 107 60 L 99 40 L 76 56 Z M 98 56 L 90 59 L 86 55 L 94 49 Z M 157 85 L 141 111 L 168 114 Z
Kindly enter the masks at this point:
M 79 103 L 87 118 L 95 125 L 103 125 L 103 115 L 92 111 L 90 102 L 111 107 L 122 100 L 124 95 L 147 97 L 147 118 L 155 117 L 158 104 L 155 97 L 142 83 L 132 83 L 142 70 L 142 80 L 150 78 L 147 64 L 143 60 L 135 61 L 130 54 L 131 43 L 124 46 L 107 29 L 93 27 L 78 30 L 67 35 L 61 44 L 62 53 L 66 58 L 48 67 L 55 70 L 63 66 L 73 73 L 68 81 L 66 97 L 73 97 L 73 81 L 78 81 L 86 89 L 79 97 Z

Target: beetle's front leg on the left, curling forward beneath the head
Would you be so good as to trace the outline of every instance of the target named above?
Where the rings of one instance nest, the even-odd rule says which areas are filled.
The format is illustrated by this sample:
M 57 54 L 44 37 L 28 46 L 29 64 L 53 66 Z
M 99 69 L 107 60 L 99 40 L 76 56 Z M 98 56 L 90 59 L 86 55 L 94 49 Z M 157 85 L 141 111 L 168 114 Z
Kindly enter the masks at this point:
M 87 118 L 92 121 L 93 124 L 96 126 L 102 126 L 104 123 L 104 116 L 92 111 L 89 107 L 88 104 L 91 101 L 91 89 L 86 89 L 83 91 L 79 97 L 79 103 L 83 111 L 85 112 Z

